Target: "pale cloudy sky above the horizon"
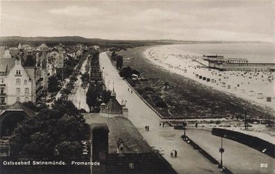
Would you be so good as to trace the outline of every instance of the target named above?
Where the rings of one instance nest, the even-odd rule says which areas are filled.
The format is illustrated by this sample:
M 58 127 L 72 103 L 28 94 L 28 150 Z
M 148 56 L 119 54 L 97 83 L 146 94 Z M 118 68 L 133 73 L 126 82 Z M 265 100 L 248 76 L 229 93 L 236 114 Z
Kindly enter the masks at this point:
M 274 42 L 272 1 L 1 1 L 1 36 Z

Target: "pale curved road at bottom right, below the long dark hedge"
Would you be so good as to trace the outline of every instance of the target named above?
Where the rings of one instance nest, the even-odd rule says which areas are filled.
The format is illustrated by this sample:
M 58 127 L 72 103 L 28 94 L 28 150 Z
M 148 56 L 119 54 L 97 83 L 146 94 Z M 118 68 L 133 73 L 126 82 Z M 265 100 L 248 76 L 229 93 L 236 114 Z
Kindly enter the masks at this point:
M 220 137 L 211 134 L 210 130 L 200 129 L 188 129 L 187 135 L 206 152 L 213 155 L 215 159 L 220 160 Z M 223 139 L 223 146 L 225 148 L 223 155 L 224 166 L 233 173 L 275 173 L 274 158 L 230 139 Z M 267 168 L 261 168 L 260 164 L 268 165 Z

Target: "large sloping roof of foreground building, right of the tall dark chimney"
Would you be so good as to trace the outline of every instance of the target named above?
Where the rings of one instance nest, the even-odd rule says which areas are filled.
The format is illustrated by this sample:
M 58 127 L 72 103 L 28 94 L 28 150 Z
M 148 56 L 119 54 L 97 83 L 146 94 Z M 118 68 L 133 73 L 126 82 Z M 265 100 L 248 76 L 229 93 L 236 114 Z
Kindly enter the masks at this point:
M 124 153 L 151 153 L 151 147 L 143 139 L 135 125 L 122 116 L 103 117 L 99 114 L 93 115 L 90 121 L 94 123 L 106 123 L 108 125 L 109 153 L 117 153 L 117 144 L 123 143 L 125 146 Z

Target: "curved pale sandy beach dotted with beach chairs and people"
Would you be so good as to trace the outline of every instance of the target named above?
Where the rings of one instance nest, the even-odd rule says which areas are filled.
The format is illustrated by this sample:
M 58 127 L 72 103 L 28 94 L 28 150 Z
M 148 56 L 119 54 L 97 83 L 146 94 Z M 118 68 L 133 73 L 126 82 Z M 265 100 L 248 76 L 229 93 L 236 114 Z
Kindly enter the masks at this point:
M 174 45 L 151 47 L 146 49 L 143 54 L 154 64 L 172 73 L 243 98 L 274 114 L 274 72 L 208 69 L 206 68 L 208 62 L 202 59 L 202 55 L 175 49 Z

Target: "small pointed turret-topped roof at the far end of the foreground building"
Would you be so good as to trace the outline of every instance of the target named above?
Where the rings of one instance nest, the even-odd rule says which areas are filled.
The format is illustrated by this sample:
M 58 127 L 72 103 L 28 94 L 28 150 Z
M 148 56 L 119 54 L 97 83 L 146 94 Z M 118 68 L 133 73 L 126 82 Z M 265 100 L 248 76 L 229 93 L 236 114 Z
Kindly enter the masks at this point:
M 111 98 L 100 112 L 106 114 L 122 114 L 122 105 L 119 104 L 117 99 Z

